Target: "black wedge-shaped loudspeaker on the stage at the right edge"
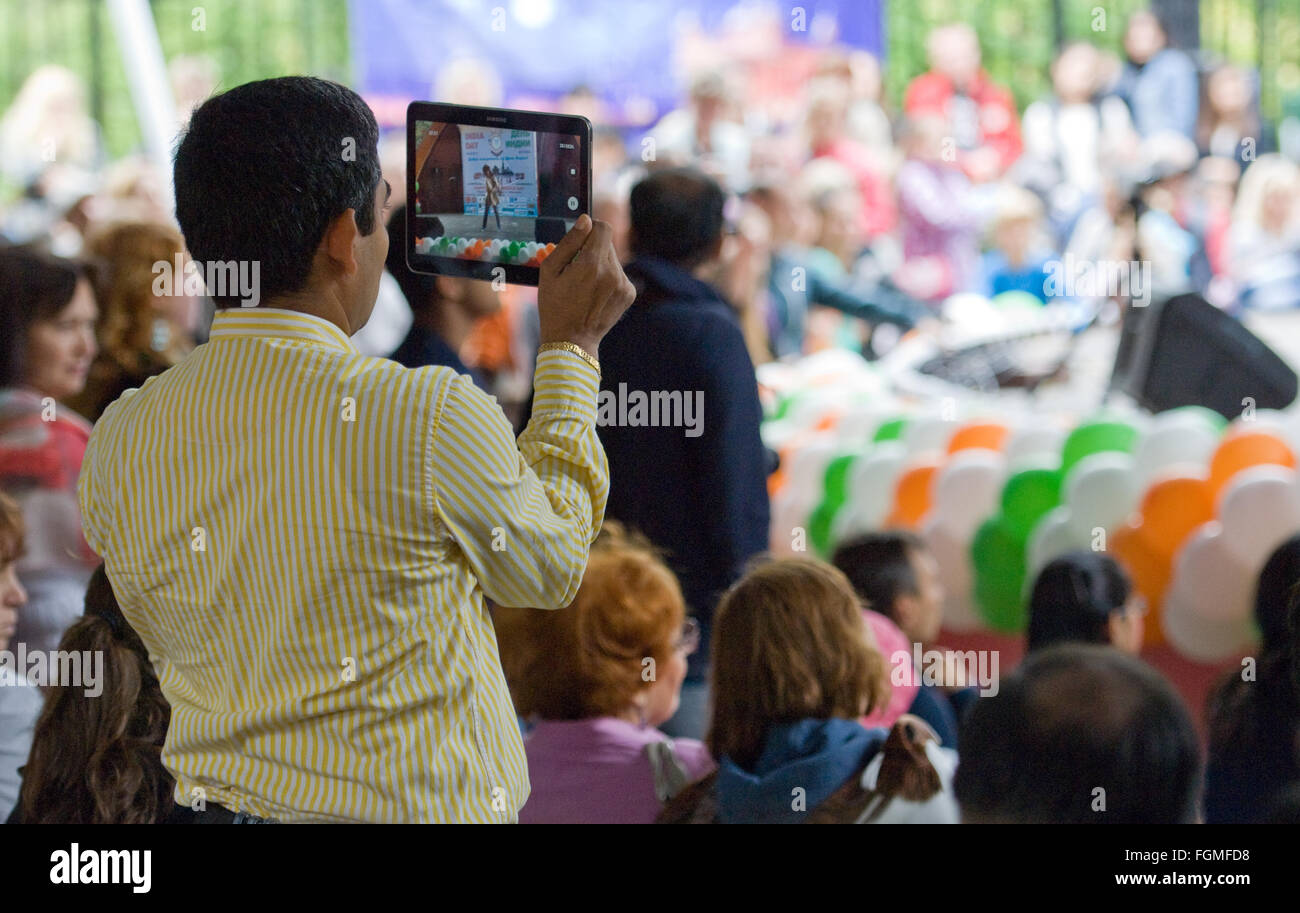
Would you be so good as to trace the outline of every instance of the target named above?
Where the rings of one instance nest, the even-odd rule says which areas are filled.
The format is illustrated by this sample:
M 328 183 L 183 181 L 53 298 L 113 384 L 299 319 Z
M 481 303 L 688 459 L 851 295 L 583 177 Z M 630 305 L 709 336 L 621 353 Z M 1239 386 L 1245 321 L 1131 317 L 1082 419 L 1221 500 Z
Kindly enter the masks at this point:
M 1110 386 L 1152 412 L 1205 406 L 1234 419 L 1248 397 L 1256 408 L 1286 408 L 1296 372 L 1235 317 L 1196 294 L 1124 310 Z

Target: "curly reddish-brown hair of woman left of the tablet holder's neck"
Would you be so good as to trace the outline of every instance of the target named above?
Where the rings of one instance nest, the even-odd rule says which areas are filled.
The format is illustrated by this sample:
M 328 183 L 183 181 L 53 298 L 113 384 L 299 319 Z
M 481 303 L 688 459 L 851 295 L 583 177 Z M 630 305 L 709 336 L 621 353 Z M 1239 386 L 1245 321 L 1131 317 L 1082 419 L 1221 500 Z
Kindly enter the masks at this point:
M 155 293 L 156 264 L 174 271 L 177 255 L 185 263 L 185 239 L 170 225 L 148 221 L 114 222 L 95 230 L 86 239 L 86 255 L 96 260 L 95 298 L 100 307 L 99 341 L 104 354 L 134 367 L 146 352 L 179 355 L 177 338 L 183 326 L 178 315 L 160 308 Z M 183 276 L 177 276 L 182 280 Z M 183 298 L 181 287 L 176 298 Z M 157 321 L 168 334 L 159 338 Z M 160 345 L 161 343 L 161 345 Z

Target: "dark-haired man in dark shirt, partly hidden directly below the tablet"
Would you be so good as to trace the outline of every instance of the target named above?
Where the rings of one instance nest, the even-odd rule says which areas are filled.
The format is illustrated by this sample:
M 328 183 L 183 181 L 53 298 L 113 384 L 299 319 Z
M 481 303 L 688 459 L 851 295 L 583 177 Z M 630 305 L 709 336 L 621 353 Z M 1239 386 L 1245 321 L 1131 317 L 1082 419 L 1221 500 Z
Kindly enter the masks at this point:
M 389 355 L 407 368 L 441 364 L 469 375 L 486 389 L 486 380 L 460 360 L 460 346 L 474 324 L 500 310 L 500 298 L 491 284 L 458 276 L 416 273 L 406 261 L 406 207 L 389 217 L 389 255 L 385 263 L 411 306 L 411 332 Z

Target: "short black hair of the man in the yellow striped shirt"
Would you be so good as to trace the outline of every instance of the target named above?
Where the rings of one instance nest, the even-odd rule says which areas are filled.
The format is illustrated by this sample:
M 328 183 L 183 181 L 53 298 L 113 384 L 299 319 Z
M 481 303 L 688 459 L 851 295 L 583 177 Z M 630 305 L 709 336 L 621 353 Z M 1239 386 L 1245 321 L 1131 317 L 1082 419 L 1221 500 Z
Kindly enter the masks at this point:
M 326 79 L 263 79 L 208 99 L 176 151 L 190 254 L 200 267 L 257 261 L 261 300 L 298 291 L 332 220 L 355 209 L 361 234 L 374 230 L 378 139 L 361 96 Z M 231 290 L 212 297 L 240 302 Z

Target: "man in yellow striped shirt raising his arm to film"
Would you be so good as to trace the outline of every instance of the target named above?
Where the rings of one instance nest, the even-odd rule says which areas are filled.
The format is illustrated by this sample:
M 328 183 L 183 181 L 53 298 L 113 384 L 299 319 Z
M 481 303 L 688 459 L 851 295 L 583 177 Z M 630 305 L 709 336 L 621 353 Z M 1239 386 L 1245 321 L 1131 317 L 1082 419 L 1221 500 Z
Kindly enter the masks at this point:
M 209 290 L 211 341 L 86 454 L 86 538 L 202 821 L 514 821 L 528 769 L 484 597 L 568 605 L 603 518 L 597 355 L 634 297 L 610 226 L 580 216 L 538 268 L 516 442 L 467 376 L 348 339 L 389 246 L 377 139 L 355 92 L 307 77 L 194 112 L 181 228 L 200 264 L 257 264 L 260 300 Z

